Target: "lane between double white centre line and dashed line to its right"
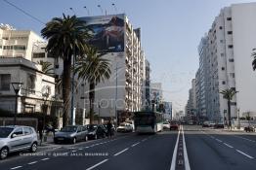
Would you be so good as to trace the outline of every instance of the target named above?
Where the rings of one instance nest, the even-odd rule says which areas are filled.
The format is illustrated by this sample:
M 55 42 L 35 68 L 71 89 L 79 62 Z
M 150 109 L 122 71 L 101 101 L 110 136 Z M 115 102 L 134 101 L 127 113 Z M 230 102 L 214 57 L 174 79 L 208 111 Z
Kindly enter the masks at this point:
M 186 126 L 185 137 L 192 170 L 254 170 L 256 162 L 225 145 L 223 138 L 199 126 Z M 212 129 L 213 130 L 213 129 Z M 223 135 L 229 138 L 229 135 Z M 226 143 L 230 145 L 230 143 Z M 231 145 L 232 146 L 232 145 Z

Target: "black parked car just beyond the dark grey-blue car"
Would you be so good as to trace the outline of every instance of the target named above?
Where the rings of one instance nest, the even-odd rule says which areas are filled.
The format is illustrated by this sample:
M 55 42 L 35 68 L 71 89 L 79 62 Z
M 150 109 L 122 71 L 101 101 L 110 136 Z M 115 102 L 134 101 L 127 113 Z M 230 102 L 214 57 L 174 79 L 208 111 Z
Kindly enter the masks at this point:
M 102 124 L 88 124 L 88 139 L 105 138 L 107 136 L 107 128 Z

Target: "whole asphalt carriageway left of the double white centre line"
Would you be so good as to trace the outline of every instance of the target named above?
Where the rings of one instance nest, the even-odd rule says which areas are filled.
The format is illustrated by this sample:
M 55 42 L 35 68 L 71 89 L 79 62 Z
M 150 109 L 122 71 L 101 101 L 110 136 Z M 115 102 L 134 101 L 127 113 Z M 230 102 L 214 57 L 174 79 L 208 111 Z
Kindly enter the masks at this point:
M 0 161 L 1 170 L 91 170 L 91 169 L 170 169 L 177 131 L 156 135 L 135 133 L 64 145 L 38 155 L 11 156 Z M 29 153 L 28 153 L 29 154 Z

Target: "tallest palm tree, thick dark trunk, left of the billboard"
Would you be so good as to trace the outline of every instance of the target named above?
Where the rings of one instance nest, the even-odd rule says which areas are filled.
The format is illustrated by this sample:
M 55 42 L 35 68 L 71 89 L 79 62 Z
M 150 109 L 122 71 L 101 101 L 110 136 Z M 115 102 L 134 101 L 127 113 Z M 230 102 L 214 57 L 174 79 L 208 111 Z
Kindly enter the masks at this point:
M 72 17 L 54 17 L 41 30 L 44 38 L 48 39 L 46 51 L 54 53 L 56 58 L 64 60 L 63 76 L 63 100 L 64 116 L 63 123 L 68 123 L 70 74 L 72 55 L 84 55 L 86 40 L 89 38 L 85 28 L 85 21 Z M 74 57 L 74 58 L 75 58 Z

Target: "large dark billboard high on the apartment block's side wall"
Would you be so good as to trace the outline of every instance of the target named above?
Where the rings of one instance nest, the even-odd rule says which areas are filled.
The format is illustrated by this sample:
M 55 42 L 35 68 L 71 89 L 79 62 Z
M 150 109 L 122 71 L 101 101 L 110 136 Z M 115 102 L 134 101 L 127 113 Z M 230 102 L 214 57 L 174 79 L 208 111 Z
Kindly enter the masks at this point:
M 80 17 L 86 21 L 92 38 L 88 44 L 102 52 L 124 51 L 124 15 Z

